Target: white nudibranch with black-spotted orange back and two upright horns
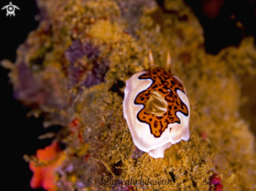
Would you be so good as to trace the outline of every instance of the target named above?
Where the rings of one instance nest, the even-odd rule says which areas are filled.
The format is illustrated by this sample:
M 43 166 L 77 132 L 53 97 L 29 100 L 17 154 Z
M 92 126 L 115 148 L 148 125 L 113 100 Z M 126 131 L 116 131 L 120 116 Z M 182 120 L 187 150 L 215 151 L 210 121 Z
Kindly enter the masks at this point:
M 151 50 L 149 61 L 149 69 L 126 82 L 124 116 L 134 144 L 163 158 L 165 149 L 190 138 L 190 102 L 183 83 L 171 73 L 170 53 L 165 68 L 154 65 Z

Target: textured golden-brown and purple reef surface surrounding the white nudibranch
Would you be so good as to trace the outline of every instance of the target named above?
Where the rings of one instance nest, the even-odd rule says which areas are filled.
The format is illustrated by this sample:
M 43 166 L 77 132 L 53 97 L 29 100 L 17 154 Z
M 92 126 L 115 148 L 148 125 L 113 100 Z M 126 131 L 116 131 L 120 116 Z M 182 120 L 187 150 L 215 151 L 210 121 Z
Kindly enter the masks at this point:
M 165 11 L 153 0 L 37 4 L 38 29 L 18 47 L 15 63 L 2 61 L 29 115 L 45 115 L 44 127 L 63 126 L 49 148 L 24 157 L 34 172 L 31 187 L 256 190 L 255 140 L 238 112 L 244 101 L 238 75 L 256 76 L 253 38 L 207 54 L 203 29 L 181 0 L 165 1 Z M 160 67 L 170 51 L 191 104 L 190 139 L 158 159 L 135 147 L 122 106 L 126 80 L 149 67 L 149 49 Z M 169 184 L 113 182 L 142 174 Z

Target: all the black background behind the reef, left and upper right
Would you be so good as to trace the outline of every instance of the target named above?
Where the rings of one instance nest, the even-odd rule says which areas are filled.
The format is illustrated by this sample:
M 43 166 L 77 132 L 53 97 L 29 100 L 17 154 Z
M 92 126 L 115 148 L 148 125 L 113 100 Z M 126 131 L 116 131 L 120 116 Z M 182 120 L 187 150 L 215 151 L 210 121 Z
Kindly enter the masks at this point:
M 242 38 L 248 35 L 255 37 L 254 1 L 226 1 L 215 19 L 205 16 L 202 10 L 203 0 L 185 2 L 192 7 L 205 30 L 205 47 L 208 53 L 217 54 L 228 45 L 239 45 Z M 15 17 L 7 17 L 6 10 L 0 10 L 0 61 L 9 59 L 15 62 L 18 45 L 24 43 L 28 33 L 39 25 L 34 19 L 38 13 L 35 1 L 15 0 L 12 3 L 20 8 L 15 10 Z M 162 1 L 158 3 L 164 8 Z M 0 8 L 8 4 L 9 1 L 1 0 Z M 231 14 L 235 15 L 236 19 L 231 19 Z M 237 21 L 244 26 L 242 29 L 236 26 Z M 4 176 L 2 183 L 7 186 L 6 190 L 34 190 L 29 186 L 32 172 L 22 157 L 24 154 L 35 154 L 37 149 L 50 145 L 51 139 L 39 140 L 38 136 L 56 132 L 58 127 L 44 129 L 43 117 L 26 117 L 30 109 L 13 99 L 12 85 L 8 83 L 8 71 L 0 66 L 1 174 Z

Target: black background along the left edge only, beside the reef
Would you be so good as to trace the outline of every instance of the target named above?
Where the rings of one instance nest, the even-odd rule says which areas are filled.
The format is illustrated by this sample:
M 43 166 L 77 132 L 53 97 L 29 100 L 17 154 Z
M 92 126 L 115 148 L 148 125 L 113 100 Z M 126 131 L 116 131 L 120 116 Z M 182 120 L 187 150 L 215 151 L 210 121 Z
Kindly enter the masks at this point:
M 15 16 L 7 17 L 6 9 L 0 10 L 0 61 L 9 59 L 15 62 L 18 45 L 24 43 L 28 33 L 35 30 L 39 24 L 34 19 L 38 13 L 35 1 L 12 0 L 12 3 L 20 8 L 15 9 Z M 8 4 L 9 1 L 1 0 L 0 8 Z M 32 172 L 23 156 L 36 154 L 38 148 L 51 144 L 50 139 L 38 139 L 39 135 L 48 132 L 49 129 L 42 127 L 43 118 L 27 118 L 26 114 L 30 109 L 13 99 L 13 87 L 7 83 L 8 71 L 0 66 L 1 174 L 2 186 L 6 187 L 1 190 L 35 190 L 29 186 Z

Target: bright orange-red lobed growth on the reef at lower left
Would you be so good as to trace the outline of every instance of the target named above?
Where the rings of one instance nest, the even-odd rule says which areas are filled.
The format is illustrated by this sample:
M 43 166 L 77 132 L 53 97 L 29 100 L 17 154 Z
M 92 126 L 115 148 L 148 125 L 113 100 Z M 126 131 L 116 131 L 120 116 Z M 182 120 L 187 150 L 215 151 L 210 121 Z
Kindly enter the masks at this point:
M 31 181 L 31 188 L 44 188 L 48 191 L 58 190 L 55 184 L 55 170 L 61 165 L 65 157 L 65 153 L 60 149 L 58 142 L 52 144 L 44 149 L 38 149 L 36 157 L 39 162 L 46 163 L 45 166 L 36 166 L 35 162 L 29 163 L 29 168 L 34 172 Z

